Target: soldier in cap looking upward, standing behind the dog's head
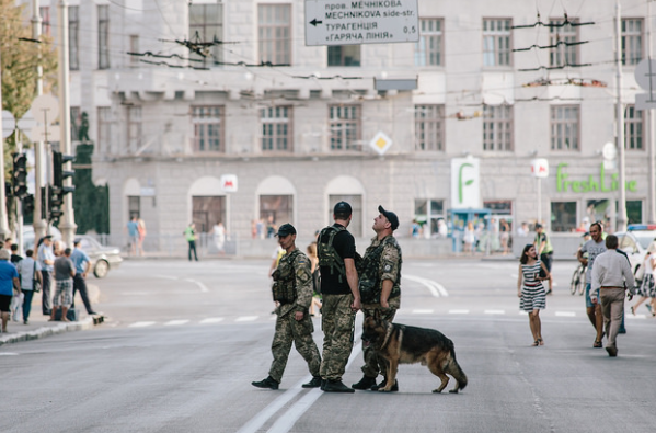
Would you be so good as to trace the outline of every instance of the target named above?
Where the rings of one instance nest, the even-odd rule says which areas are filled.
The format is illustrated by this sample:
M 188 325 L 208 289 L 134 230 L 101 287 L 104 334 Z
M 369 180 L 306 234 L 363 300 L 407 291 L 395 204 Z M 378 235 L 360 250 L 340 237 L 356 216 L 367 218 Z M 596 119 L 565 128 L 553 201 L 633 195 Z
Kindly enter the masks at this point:
M 376 236 L 367 248 L 360 265 L 359 289 L 365 319 L 373 317 L 378 311 L 380 318 L 391 323 L 396 310 L 401 307 L 401 247 L 394 238 L 394 230 L 399 228 L 399 217 L 382 206 L 378 206 L 380 213 L 373 218 L 371 227 Z M 384 358 L 380 357 L 371 346 L 364 346 L 365 365 L 364 376 L 355 389 L 378 390 L 388 383 L 388 368 Z M 376 385 L 378 374 L 383 379 Z M 399 390 L 399 383 L 392 385 L 392 391 Z

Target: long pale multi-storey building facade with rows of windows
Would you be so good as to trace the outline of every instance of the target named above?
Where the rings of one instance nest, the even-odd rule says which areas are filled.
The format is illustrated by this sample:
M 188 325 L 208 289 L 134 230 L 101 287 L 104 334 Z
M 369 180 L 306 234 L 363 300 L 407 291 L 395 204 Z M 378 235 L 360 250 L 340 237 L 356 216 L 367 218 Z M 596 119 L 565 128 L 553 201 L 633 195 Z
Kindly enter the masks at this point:
M 56 34 L 58 1 L 41 3 Z M 614 223 L 618 168 L 602 152 L 615 143 L 614 0 L 418 0 L 418 42 L 330 47 L 306 45 L 303 0 L 68 3 L 73 128 L 85 113 L 116 242 L 131 215 L 149 233 L 222 221 L 251 238 L 291 223 L 310 237 L 341 200 L 356 237 L 371 235 L 379 204 L 402 236 L 416 220 L 433 237 L 470 207 L 552 231 Z M 647 8 L 622 1 L 619 36 L 636 223 L 654 218 L 634 78 Z M 532 175 L 536 158 L 548 178 Z

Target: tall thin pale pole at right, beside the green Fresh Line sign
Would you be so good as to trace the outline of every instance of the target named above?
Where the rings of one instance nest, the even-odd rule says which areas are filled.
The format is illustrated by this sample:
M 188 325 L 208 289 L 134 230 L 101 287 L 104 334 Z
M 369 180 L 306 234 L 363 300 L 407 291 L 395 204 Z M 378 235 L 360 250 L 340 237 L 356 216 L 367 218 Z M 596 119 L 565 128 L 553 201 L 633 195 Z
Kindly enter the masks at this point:
M 618 100 L 617 109 L 617 146 L 619 156 L 619 174 L 620 174 L 620 200 L 618 206 L 617 231 L 626 230 L 626 161 L 624 156 L 624 109 L 622 105 L 622 7 L 620 0 L 615 2 L 617 22 L 615 22 L 615 50 L 617 50 L 617 68 L 618 68 Z

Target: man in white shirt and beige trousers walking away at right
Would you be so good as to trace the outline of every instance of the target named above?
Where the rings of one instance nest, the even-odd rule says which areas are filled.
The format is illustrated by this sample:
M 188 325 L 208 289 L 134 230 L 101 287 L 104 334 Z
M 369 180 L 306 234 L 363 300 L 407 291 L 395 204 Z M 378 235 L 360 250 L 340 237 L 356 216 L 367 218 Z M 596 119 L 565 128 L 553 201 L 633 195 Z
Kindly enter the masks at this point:
M 614 357 L 618 356 L 615 339 L 624 316 L 625 290 L 626 287 L 633 288 L 635 281 L 629 260 L 617 251 L 618 237 L 608 235 L 606 248 L 608 251 L 602 252 L 595 260 L 590 298 L 594 304 L 601 301 L 607 339 L 606 351 L 609 356 Z

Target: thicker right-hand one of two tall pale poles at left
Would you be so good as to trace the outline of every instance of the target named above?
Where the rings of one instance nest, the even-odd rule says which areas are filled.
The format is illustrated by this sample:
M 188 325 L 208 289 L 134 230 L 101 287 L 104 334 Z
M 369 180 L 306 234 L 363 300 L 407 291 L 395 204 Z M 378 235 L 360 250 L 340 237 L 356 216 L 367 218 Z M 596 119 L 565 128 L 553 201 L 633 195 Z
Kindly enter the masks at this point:
M 59 0 L 57 4 L 57 22 L 59 24 L 59 128 L 60 128 L 60 150 L 62 153 L 71 155 L 70 141 L 70 92 L 69 92 L 69 70 L 68 70 L 68 1 Z M 66 170 L 71 170 L 71 163 L 66 162 Z M 65 186 L 71 186 L 72 179 L 64 180 Z M 72 194 L 64 195 L 64 220 L 59 225 L 62 240 L 67 247 L 73 244 L 76 236 L 76 216 L 73 215 Z

